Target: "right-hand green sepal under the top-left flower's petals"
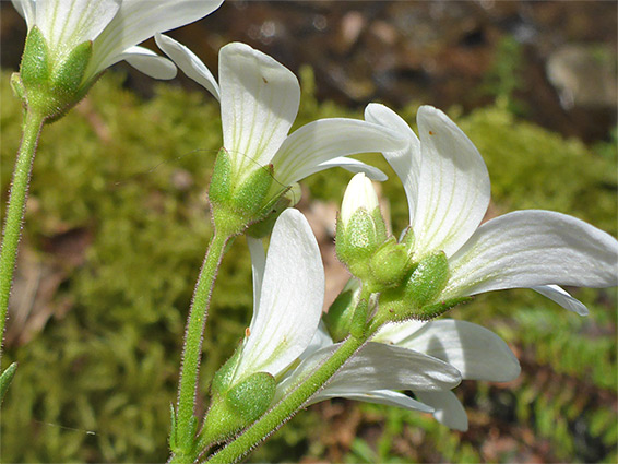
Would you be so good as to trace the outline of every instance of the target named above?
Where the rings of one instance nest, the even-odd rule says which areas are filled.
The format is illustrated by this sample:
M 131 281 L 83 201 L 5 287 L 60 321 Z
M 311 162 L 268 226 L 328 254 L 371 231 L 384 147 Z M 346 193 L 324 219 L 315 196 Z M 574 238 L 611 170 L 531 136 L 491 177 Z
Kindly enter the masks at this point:
M 73 48 L 60 66 L 54 67 L 51 75 L 51 93 L 54 95 L 64 95 L 68 99 L 81 99 L 82 81 L 92 53 L 93 43 L 86 40 Z

